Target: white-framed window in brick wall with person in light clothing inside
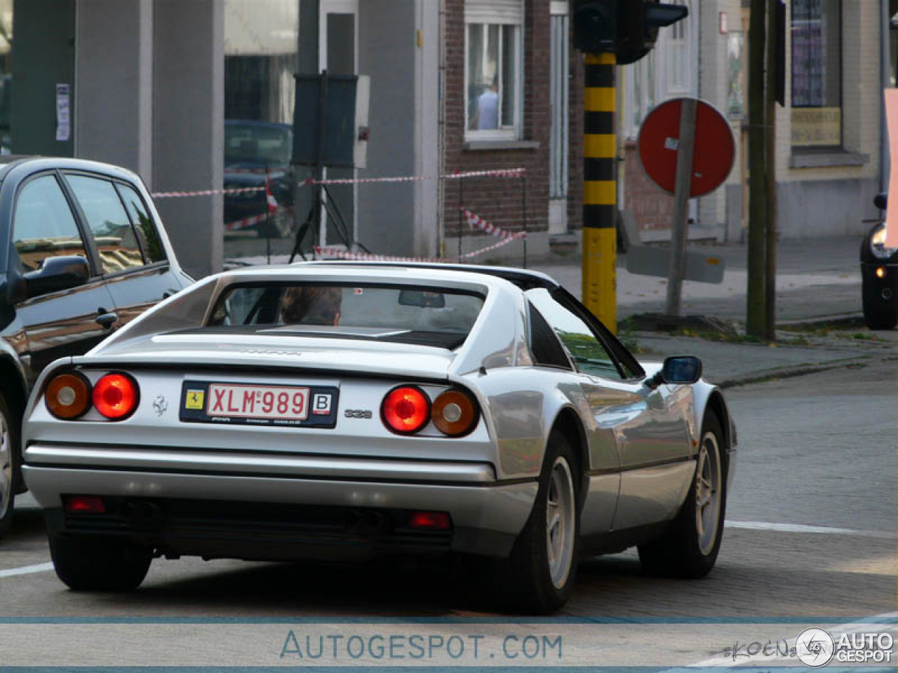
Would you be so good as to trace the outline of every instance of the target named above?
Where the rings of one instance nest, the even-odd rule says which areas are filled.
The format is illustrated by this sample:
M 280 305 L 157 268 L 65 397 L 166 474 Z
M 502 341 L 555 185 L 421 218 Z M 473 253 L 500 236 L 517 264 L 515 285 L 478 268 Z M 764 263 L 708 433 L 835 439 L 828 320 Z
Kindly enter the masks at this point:
M 522 0 L 465 3 L 466 137 L 520 137 L 522 100 Z

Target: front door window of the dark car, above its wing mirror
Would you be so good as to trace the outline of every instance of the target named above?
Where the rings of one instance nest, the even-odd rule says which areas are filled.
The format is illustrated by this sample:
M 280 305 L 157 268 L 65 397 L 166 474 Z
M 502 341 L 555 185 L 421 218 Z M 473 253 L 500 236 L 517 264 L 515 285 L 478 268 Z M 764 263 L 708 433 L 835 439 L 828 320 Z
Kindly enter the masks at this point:
M 31 179 L 19 191 L 13 245 L 25 271 L 40 268 L 49 257 L 76 255 L 87 259 L 75 215 L 54 176 Z

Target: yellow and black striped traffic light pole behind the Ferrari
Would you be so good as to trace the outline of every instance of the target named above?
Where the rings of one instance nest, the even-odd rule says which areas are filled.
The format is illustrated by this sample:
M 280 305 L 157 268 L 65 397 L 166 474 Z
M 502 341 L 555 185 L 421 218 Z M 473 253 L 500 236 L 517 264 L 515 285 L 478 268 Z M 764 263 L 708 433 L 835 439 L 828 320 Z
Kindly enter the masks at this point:
M 614 54 L 586 54 L 583 127 L 583 302 L 617 333 L 617 135 Z

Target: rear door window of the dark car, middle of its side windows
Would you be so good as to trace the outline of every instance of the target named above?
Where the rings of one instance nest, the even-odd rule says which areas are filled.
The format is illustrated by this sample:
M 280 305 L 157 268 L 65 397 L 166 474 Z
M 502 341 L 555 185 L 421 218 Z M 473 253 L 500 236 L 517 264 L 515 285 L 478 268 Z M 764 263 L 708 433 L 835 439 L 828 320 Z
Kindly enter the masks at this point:
M 103 265 L 104 274 L 143 267 L 144 257 L 119 193 L 109 180 L 67 175 Z

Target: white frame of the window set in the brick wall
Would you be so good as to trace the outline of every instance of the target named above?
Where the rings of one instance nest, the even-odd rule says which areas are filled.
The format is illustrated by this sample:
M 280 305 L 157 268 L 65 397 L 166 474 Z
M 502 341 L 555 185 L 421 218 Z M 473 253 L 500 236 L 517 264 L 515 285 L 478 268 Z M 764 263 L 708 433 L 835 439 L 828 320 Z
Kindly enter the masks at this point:
M 484 3 L 489 4 L 489 3 Z M 478 141 L 515 141 L 524 137 L 524 28 L 526 18 L 524 12 L 524 0 L 520 0 L 521 12 L 520 17 L 516 19 L 510 18 L 506 13 L 502 13 L 497 7 L 494 12 L 489 10 L 489 6 L 479 4 L 475 11 L 469 11 L 468 4 L 465 5 L 464 15 L 464 31 L 463 31 L 463 48 L 462 58 L 464 60 L 464 82 L 462 83 L 463 102 L 462 117 L 464 118 L 464 140 L 465 142 Z M 499 44 L 497 46 L 497 73 L 499 74 L 499 101 L 498 120 L 499 127 L 495 129 L 473 129 L 469 127 L 470 118 L 469 110 L 471 109 L 471 64 L 468 60 L 468 48 L 470 45 L 471 26 L 482 25 L 484 27 L 485 37 L 489 33 L 489 26 L 497 25 L 499 28 Z M 502 101 L 505 92 L 502 87 L 501 73 L 503 71 L 504 55 L 503 55 L 503 28 L 511 26 L 515 35 L 515 73 L 516 81 L 514 87 L 515 97 L 515 119 L 510 126 L 502 126 Z M 487 48 L 486 39 L 483 40 L 483 48 Z

